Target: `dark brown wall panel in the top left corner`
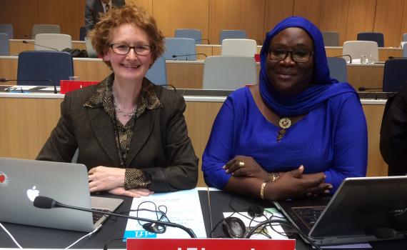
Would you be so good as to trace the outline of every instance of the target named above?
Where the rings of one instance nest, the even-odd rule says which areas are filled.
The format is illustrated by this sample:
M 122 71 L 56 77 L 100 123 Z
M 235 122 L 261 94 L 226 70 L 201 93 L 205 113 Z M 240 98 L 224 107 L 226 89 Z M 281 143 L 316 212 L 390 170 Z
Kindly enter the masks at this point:
M 34 24 L 38 24 L 38 0 L 1 1 L 0 24 L 13 24 L 14 38 L 27 39 Z

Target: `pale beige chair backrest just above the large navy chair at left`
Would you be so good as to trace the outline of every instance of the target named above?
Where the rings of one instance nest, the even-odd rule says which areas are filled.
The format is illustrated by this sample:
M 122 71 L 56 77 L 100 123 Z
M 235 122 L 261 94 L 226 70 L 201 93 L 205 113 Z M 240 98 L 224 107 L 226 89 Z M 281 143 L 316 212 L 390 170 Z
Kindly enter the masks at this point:
M 35 50 L 62 51 L 66 48 L 72 49 L 72 38 L 67 34 L 36 34 L 35 44 Z

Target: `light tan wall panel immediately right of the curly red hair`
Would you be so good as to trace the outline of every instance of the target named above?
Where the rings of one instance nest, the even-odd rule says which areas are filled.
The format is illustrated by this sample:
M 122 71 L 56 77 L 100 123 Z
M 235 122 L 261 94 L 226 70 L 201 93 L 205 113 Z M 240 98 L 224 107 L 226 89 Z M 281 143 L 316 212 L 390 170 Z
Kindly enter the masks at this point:
M 154 18 L 164 36 L 174 37 L 176 29 L 201 29 L 208 38 L 208 0 L 154 0 Z

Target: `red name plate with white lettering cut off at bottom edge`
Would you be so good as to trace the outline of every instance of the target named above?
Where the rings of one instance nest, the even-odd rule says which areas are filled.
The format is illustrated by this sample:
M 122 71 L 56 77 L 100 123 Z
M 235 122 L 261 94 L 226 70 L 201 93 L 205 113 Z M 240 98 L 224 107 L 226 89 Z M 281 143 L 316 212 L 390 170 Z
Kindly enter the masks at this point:
M 294 250 L 294 239 L 127 239 L 127 250 Z

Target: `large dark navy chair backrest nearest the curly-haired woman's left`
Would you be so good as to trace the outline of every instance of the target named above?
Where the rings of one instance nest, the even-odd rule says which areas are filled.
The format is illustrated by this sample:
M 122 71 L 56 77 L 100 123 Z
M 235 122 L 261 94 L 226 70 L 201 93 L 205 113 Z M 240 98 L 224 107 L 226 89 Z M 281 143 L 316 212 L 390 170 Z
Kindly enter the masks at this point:
M 23 51 L 19 54 L 17 80 L 50 79 L 59 86 L 59 81 L 74 76 L 74 60 L 68 52 Z M 53 86 L 49 81 L 17 81 L 19 85 Z

